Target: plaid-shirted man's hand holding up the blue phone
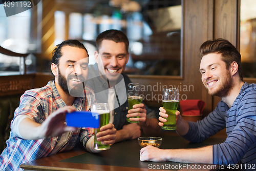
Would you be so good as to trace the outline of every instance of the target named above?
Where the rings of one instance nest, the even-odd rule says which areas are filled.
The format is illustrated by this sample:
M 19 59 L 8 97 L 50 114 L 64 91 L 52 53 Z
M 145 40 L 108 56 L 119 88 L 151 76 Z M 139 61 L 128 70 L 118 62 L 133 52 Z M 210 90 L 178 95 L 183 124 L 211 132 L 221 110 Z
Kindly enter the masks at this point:
M 39 128 L 41 138 L 51 138 L 60 136 L 63 132 L 77 131 L 77 128 L 70 127 L 65 124 L 66 113 L 75 111 L 73 106 L 65 106 L 52 112 L 43 122 Z

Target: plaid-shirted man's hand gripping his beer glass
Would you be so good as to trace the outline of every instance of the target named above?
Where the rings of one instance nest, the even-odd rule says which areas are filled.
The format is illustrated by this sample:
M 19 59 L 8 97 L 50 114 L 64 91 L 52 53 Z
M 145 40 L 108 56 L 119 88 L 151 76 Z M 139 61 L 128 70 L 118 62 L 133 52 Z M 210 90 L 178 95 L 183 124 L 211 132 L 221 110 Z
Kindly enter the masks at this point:
M 106 124 L 100 127 L 100 132 L 97 133 L 97 141 L 101 144 L 114 144 L 116 140 L 116 128 L 113 124 Z

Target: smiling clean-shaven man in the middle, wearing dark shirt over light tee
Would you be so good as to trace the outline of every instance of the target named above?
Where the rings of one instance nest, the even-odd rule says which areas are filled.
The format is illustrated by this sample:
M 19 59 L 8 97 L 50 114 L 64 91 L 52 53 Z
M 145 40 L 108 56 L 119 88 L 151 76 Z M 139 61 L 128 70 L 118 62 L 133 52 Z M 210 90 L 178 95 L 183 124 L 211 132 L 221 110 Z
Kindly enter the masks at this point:
M 161 131 L 156 112 L 143 103 L 128 110 L 127 86 L 131 83 L 124 74 L 125 65 L 129 60 L 129 41 L 119 30 L 106 30 L 96 39 L 96 64 L 89 65 L 89 85 L 95 92 L 97 102 L 109 103 L 110 123 L 117 129 L 115 142 L 136 139 L 143 132 L 148 136 L 156 136 Z M 139 123 L 128 123 L 139 121 Z

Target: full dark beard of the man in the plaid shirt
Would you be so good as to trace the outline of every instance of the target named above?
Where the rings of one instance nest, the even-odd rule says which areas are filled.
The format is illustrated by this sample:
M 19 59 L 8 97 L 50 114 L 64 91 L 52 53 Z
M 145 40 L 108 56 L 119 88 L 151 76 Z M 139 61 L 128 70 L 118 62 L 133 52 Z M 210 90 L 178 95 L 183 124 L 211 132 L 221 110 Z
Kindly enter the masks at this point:
M 74 87 L 68 86 L 68 81 L 70 80 L 72 75 L 69 75 L 68 78 L 66 79 L 64 75 L 60 73 L 58 70 L 58 84 L 61 87 L 61 89 L 68 95 L 72 97 L 84 97 L 84 86 L 86 85 L 86 81 L 83 81 L 81 84 L 78 84 Z M 82 78 L 79 78 L 80 80 L 84 80 Z

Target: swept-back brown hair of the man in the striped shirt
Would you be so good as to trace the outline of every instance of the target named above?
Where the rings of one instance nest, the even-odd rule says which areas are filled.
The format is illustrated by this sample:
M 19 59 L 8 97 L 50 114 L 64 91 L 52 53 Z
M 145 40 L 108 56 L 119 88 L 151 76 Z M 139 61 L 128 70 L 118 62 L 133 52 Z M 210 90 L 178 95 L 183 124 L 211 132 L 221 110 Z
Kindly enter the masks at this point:
M 230 67 L 233 61 L 236 62 L 240 80 L 243 81 L 241 54 L 229 41 L 220 38 L 204 42 L 200 46 L 199 57 L 202 59 L 209 53 L 221 53 L 221 59 L 226 63 L 226 69 Z

